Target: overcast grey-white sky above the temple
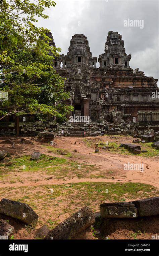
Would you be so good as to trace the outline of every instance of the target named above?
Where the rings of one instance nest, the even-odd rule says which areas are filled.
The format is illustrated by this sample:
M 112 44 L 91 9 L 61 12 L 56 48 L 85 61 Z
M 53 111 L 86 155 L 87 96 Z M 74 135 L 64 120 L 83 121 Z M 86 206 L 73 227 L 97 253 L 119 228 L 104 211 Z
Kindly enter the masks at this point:
M 55 0 L 46 9 L 49 19 L 38 26 L 51 30 L 56 47 L 64 55 L 74 34 L 87 36 L 93 57 L 104 53 L 108 31 L 122 35 L 130 67 L 159 78 L 159 2 L 157 0 Z M 124 20 L 143 20 L 144 27 L 124 27 Z M 81 25 L 79 26 L 79 22 Z M 97 67 L 99 64 L 97 63 Z M 159 85 L 159 83 L 158 83 Z

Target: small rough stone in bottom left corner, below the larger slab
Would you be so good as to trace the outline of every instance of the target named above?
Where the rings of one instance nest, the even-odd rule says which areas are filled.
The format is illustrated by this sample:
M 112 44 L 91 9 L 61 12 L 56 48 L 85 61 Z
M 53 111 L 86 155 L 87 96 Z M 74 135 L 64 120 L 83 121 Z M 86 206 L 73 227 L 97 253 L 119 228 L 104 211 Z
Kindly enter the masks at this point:
M 0 240 L 9 239 L 13 232 L 13 226 L 11 226 L 6 220 L 0 220 Z

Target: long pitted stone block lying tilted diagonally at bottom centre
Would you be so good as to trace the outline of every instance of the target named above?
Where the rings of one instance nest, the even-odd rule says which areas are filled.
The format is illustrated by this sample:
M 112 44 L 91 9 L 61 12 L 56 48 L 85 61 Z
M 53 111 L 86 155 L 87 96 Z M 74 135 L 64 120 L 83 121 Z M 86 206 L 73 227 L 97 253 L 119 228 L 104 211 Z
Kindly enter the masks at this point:
M 44 239 L 73 239 L 78 233 L 94 223 L 94 214 L 89 207 L 83 207 L 50 230 Z

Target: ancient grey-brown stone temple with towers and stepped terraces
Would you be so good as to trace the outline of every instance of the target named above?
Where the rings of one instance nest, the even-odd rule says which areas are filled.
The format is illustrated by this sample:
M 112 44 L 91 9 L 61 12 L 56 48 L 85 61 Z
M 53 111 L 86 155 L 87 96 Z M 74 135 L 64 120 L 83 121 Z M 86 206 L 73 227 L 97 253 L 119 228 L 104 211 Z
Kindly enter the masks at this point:
M 51 32 L 50 46 L 55 46 Z M 36 122 L 29 128 L 21 124 L 21 132 L 43 131 L 46 127 L 58 135 L 82 136 L 98 134 L 137 134 L 159 130 L 158 79 L 147 77 L 139 68 L 130 67 L 131 54 L 125 53 L 124 41 L 118 32 L 108 32 L 104 53 L 92 57 L 89 42 L 83 34 L 70 40 L 67 55 L 53 60 L 53 67 L 66 77 L 65 90 L 74 111 L 68 122 L 57 124 Z M 89 122 L 69 122 L 70 117 L 89 117 Z

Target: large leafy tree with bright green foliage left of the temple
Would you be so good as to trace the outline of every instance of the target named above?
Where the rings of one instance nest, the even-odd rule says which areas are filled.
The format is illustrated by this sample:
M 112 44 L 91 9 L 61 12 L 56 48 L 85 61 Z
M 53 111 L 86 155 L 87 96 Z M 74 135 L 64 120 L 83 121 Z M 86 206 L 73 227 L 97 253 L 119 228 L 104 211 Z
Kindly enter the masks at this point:
M 48 29 L 35 26 L 37 17 L 48 18 L 45 7 L 55 5 L 52 0 L 3 0 L 0 4 L 0 120 L 27 114 L 64 120 L 72 110 L 72 106 L 56 104 L 69 98 L 64 78 L 52 67 L 60 49 L 49 46 Z M 3 99 L 2 92 L 8 99 Z

